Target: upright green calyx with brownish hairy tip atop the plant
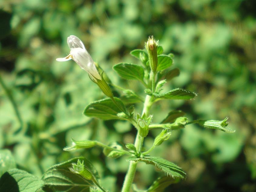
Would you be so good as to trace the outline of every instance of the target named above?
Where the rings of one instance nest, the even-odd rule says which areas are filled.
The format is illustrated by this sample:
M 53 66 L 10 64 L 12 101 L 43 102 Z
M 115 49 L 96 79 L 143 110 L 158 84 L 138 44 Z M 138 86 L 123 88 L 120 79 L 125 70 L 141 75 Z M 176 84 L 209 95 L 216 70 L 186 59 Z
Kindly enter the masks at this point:
M 149 66 L 154 74 L 157 69 L 157 46 L 158 41 L 156 41 L 153 36 L 149 37 L 148 41 L 145 43 L 145 48 L 148 51 Z

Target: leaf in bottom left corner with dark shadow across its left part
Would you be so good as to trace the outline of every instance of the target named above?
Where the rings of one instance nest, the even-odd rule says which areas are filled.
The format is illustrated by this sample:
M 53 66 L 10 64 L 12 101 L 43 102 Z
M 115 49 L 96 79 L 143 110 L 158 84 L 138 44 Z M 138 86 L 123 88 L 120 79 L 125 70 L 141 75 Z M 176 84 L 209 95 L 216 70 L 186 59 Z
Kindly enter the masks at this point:
M 11 169 L 0 178 L 0 191 L 35 192 L 43 187 L 44 182 L 24 170 Z

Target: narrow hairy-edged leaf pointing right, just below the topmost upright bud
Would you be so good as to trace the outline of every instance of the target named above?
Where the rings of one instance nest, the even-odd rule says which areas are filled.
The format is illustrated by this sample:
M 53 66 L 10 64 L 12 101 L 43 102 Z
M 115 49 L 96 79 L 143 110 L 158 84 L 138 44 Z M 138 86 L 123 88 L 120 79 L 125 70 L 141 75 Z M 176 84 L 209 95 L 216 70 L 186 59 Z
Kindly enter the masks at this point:
M 192 99 L 194 96 L 197 96 L 194 92 L 188 91 L 186 89 L 173 89 L 171 91 L 168 91 L 163 94 L 156 94 L 153 93 L 153 95 L 159 99 L 182 99 L 182 100 L 187 100 L 187 99 Z

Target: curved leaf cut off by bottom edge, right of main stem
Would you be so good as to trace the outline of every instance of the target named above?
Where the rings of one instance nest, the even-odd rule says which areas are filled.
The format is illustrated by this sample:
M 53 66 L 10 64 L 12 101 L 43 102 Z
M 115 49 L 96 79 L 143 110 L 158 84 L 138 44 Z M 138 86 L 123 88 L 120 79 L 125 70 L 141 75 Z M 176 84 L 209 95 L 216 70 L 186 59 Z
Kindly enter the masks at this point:
M 157 180 L 147 189 L 147 190 L 138 190 L 136 185 L 133 185 L 133 190 L 135 192 L 163 192 L 166 187 L 171 184 L 178 183 L 180 181 L 179 178 L 173 179 L 171 177 L 158 177 Z

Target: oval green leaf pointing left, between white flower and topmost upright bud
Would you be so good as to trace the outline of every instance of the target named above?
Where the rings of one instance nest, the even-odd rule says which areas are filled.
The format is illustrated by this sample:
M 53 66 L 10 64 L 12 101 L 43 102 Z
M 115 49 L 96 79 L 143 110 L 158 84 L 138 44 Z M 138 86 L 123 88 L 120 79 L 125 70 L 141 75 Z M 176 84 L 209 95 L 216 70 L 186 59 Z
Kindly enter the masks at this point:
M 113 69 L 124 79 L 135 79 L 143 81 L 144 79 L 144 68 L 129 63 L 119 63 L 113 66 Z

